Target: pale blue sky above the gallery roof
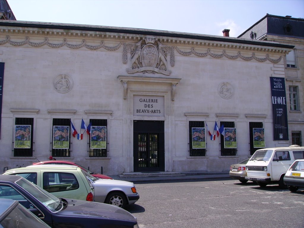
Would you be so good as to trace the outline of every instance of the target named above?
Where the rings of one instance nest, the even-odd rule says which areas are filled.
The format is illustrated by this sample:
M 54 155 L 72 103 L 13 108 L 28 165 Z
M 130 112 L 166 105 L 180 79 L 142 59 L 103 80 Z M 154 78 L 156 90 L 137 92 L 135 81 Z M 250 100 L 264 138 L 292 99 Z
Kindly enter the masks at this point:
M 304 18 L 304 0 L 7 0 L 19 21 L 237 37 L 272 14 Z

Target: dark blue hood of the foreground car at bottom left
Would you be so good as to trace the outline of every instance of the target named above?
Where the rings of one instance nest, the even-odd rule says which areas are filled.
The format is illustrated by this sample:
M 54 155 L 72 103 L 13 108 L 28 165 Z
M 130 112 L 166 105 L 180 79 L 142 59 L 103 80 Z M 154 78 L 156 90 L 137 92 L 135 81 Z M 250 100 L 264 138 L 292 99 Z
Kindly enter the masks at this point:
M 62 211 L 57 212 L 58 215 L 103 217 L 129 220 L 137 223 L 137 219 L 130 212 L 117 206 L 77 199 L 63 199 L 63 202 L 64 200 L 67 201 L 68 205 Z

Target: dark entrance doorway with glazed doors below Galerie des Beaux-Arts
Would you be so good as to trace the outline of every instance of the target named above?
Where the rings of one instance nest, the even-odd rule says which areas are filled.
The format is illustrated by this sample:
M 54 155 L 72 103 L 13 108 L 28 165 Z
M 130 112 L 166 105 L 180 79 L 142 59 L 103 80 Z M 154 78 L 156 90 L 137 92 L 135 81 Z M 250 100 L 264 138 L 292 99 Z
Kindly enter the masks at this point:
M 133 121 L 134 172 L 165 170 L 164 121 Z

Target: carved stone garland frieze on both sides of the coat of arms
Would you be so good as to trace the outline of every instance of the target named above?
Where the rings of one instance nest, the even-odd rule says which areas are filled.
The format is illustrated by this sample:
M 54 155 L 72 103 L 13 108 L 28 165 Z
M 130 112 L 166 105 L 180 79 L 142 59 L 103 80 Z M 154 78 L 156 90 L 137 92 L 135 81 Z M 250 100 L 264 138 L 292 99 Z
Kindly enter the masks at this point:
M 31 47 L 42 47 L 44 45 L 47 45 L 48 47 L 51 47 L 51 48 L 59 48 L 59 47 L 66 46 L 66 47 L 71 48 L 71 49 L 79 49 L 81 47 L 85 47 L 89 50 L 98 50 L 100 48 L 104 48 L 105 50 L 108 50 L 108 51 L 116 51 L 123 45 L 123 57 L 122 57 L 123 58 L 122 59 L 123 64 L 127 64 L 127 62 L 128 62 L 128 57 L 127 57 L 128 50 L 130 51 L 131 54 L 134 52 L 134 50 L 132 49 L 132 47 L 133 47 L 132 43 L 123 43 L 123 44 L 119 43 L 115 47 L 107 47 L 107 46 L 104 45 L 104 41 L 100 41 L 99 45 L 93 46 L 93 45 L 86 44 L 86 41 L 82 40 L 81 44 L 75 45 L 75 44 L 67 43 L 66 38 L 63 39 L 62 43 L 53 44 L 53 43 L 49 43 L 47 37 L 44 38 L 43 42 L 34 43 L 34 42 L 29 41 L 28 36 L 26 36 L 25 40 L 21 41 L 21 42 L 11 41 L 10 37 L 6 36 L 5 40 L 0 41 L 0 45 L 4 45 L 5 43 L 9 43 L 10 45 L 16 46 L 16 47 L 28 44 Z M 258 58 L 258 57 L 255 56 L 255 53 L 252 53 L 251 57 L 245 57 L 245 56 L 241 55 L 240 51 L 238 52 L 237 55 L 228 55 L 226 53 L 226 50 L 223 50 L 223 54 L 214 54 L 214 53 L 211 53 L 211 49 L 207 49 L 206 53 L 198 53 L 198 52 L 195 51 L 194 47 L 191 48 L 191 51 L 184 52 L 184 51 L 181 51 L 178 47 L 166 46 L 165 50 L 166 50 L 167 53 L 170 53 L 170 64 L 171 64 L 172 67 L 175 65 L 174 49 L 182 56 L 189 56 L 189 55 L 194 54 L 197 57 L 207 57 L 209 55 L 212 58 L 216 58 L 216 59 L 219 59 L 219 58 L 222 58 L 222 57 L 226 57 L 226 58 L 231 59 L 231 60 L 241 58 L 242 60 L 245 60 L 245 61 L 250 61 L 250 60 L 255 59 L 258 62 L 265 62 L 266 60 L 268 60 L 271 63 L 279 63 L 282 60 L 282 56 L 280 56 L 278 59 L 271 59 L 268 54 L 266 54 L 265 58 Z

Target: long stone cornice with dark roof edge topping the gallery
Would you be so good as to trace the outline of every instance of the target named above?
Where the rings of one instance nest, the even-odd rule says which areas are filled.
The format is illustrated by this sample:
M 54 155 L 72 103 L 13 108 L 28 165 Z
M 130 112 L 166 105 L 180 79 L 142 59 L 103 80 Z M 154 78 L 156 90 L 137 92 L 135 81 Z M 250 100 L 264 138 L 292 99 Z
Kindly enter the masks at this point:
M 68 29 L 68 30 L 67 30 Z M 84 26 L 72 24 L 55 24 L 43 22 L 0 22 L 0 34 L 18 34 L 24 36 L 73 37 L 81 39 L 111 39 L 118 42 L 137 42 L 144 37 L 153 36 L 167 45 L 186 45 L 218 47 L 226 49 L 256 50 L 282 53 L 292 48 L 280 43 L 246 40 L 234 37 L 211 36 L 194 33 L 178 33 L 161 30 L 130 29 L 106 26 Z M 32 38 L 31 38 L 32 39 Z

